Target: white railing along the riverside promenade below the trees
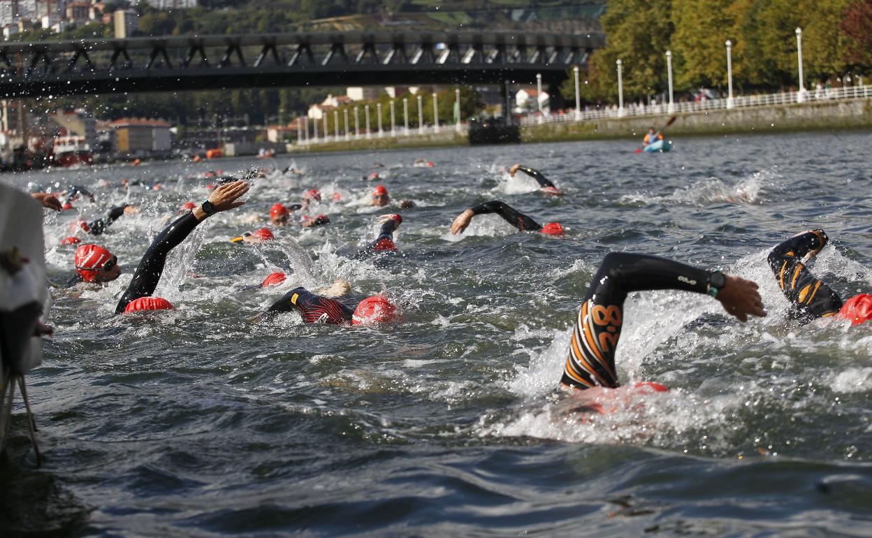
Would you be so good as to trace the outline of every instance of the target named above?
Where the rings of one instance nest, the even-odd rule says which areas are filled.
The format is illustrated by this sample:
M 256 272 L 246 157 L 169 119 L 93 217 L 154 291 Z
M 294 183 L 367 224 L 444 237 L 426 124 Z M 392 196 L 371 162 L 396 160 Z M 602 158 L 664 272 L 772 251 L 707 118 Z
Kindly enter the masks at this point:
M 820 90 L 805 90 L 803 99 L 800 101 L 799 92 L 766 93 L 762 95 L 738 95 L 732 99 L 732 108 L 748 106 L 774 106 L 793 105 L 797 102 L 814 103 L 814 101 L 844 100 L 844 99 L 869 99 L 872 98 L 872 85 L 844 86 L 841 88 L 829 88 Z M 668 112 L 669 105 L 660 103 L 657 105 L 624 106 L 623 111 L 617 106 L 598 108 L 578 112 L 570 110 L 561 114 L 548 114 L 538 116 L 530 114 L 521 119 L 521 125 L 532 126 L 542 123 L 560 123 L 564 121 L 584 121 L 586 119 L 622 118 L 628 116 L 660 116 Z M 675 112 L 705 112 L 707 110 L 726 109 L 726 98 L 705 99 L 700 101 L 675 103 Z

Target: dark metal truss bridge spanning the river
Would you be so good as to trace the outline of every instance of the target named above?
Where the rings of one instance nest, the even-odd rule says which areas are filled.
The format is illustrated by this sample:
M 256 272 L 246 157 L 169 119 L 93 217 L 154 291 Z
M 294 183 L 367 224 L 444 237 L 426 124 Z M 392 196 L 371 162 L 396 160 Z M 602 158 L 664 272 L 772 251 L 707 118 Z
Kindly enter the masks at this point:
M 557 84 L 603 34 L 325 32 L 0 44 L 0 98 L 269 86 Z

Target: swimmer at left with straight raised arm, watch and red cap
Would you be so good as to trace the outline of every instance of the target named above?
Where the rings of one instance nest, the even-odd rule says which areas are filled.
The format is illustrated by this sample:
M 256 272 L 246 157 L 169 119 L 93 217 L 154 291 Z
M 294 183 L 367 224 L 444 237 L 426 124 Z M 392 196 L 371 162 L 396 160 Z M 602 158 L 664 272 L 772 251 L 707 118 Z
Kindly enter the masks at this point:
M 133 280 L 130 281 L 130 285 L 115 307 L 115 313 L 172 309 L 173 305 L 166 299 L 151 296 L 160 282 L 167 255 L 209 216 L 242 206 L 245 202 L 238 201 L 238 198 L 247 193 L 249 188 L 249 184 L 243 180 L 221 185 L 209 193 L 208 199 L 193 211 L 179 217 L 160 232 L 146 250 L 146 254 L 142 256 L 140 265 L 133 274 Z

